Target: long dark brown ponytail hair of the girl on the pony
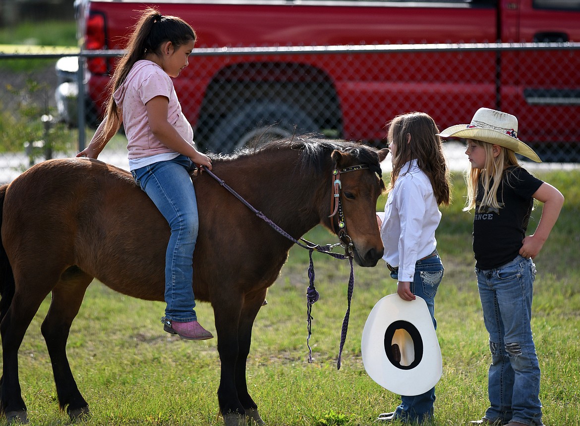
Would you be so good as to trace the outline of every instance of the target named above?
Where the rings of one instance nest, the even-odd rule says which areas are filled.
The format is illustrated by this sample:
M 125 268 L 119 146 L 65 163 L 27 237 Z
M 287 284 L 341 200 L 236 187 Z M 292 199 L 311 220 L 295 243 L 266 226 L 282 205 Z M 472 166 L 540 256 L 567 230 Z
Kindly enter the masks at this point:
M 105 118 L 117 115 L 117 103 L 113 94 L 127 78 L 129 71 L 139 60 L 145 59 L 147 53 L 161 54 L 161 45 L 170 41 L 175 48 L 195 41 L 195 31 L 183 19 L 176 16 L 162 16 L 158 10 L 143 10 L 135 24 L 135 30 L 127 42 L 126 53 L 121 57 L 113 78 L 109 82 L 111 94 L 107 103 Z M 104 134 L 113 128 L 113 121 L 107 120 Z

